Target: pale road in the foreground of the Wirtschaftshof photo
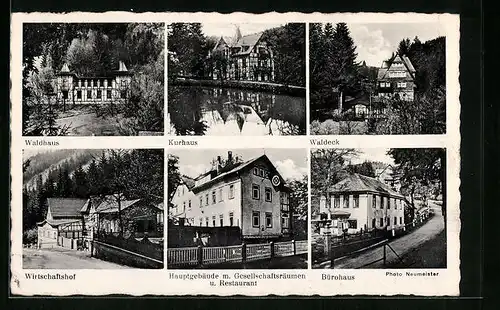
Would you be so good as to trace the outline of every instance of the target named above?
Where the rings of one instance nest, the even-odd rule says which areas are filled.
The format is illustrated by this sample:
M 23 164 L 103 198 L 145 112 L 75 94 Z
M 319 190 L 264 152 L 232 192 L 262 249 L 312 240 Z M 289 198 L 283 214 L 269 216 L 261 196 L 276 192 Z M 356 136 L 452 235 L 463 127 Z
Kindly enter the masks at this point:
M 61 247 L 50 249 L 23 248 L 24 269 L 124 269 L 130 268 L 97 258 L 89 252 Z

